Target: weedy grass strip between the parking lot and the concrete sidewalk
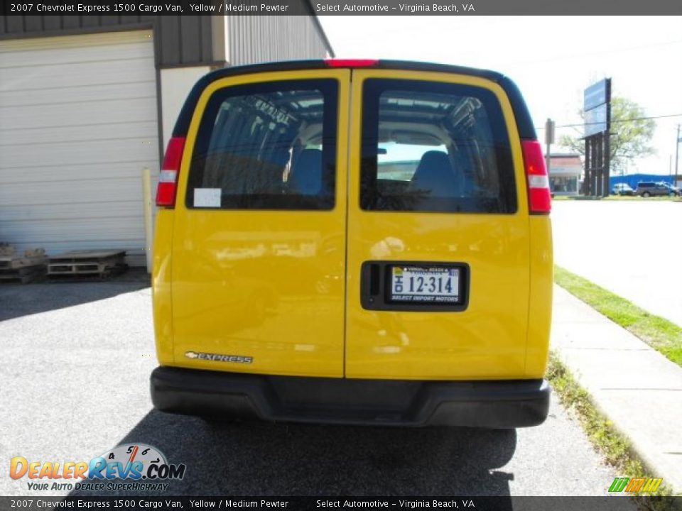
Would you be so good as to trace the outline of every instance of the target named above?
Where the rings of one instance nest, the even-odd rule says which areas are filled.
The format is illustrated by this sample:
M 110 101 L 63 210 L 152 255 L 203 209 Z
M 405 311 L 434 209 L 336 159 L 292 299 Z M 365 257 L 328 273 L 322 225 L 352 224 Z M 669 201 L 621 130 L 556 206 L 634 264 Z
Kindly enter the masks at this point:
M 561 404 L 578 418 L 592 445 L 606 463 L 616 469 L 619 477 L 660 477 L 644 468 L 642 461 L 632 451 L 630 441 L 617 432 L 613 423 L 597 409 L 588 392 L 580 387 L 556 353 L 550 353 L 547 379 Z M 611 481 L 605 482 L 605 485 L 610 484 Z M 672 495 L 672 491 L 665 485 L 664 479 L 655 493 L 647 494 L 651 499 L 642 499 L 644 495 L 635 495 L 634 498 L 642 510 L 664 511 L 673 506 L 670 499 L 663 498 L 669 495 Z

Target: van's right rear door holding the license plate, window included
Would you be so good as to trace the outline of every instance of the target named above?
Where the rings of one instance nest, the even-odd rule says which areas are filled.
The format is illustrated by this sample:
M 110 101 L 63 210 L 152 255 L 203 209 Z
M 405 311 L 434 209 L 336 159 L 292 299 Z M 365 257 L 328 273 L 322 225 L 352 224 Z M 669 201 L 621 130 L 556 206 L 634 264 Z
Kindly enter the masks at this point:
M 498 84 L 354 70 L 349 378 L 523 378 L 529 214 Z

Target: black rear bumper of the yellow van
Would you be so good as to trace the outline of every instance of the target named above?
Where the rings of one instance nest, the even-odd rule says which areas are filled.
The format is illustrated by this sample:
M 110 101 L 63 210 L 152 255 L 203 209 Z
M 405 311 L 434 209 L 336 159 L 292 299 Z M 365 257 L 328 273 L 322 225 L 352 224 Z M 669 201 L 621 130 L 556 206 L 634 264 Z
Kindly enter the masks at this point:
M 283 422 L 527 427 L 546 419 L 549 393 L 546 380 L 355 380 L 171 367 L 151 373 L 158 410 Z

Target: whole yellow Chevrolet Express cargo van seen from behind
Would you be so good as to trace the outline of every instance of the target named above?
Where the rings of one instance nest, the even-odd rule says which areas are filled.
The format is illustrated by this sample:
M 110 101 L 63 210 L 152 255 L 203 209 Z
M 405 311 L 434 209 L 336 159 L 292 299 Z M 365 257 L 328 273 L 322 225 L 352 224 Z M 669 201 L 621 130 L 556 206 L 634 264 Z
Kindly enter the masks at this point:
M 336 59 L 211 72 L 175 125 L 157 205 L 159 410 L 546 418 L 550 192 L 507 77 Z

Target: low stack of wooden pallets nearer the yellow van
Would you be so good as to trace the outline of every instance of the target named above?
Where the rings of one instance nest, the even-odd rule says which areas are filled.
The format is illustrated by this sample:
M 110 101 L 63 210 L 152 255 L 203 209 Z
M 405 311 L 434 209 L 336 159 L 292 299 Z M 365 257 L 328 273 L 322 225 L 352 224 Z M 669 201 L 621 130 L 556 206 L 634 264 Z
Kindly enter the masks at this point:
M 108 277 L 127 268 L 126 251 L 71 251 L 50 257 L 48 277 Z

